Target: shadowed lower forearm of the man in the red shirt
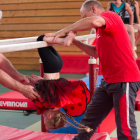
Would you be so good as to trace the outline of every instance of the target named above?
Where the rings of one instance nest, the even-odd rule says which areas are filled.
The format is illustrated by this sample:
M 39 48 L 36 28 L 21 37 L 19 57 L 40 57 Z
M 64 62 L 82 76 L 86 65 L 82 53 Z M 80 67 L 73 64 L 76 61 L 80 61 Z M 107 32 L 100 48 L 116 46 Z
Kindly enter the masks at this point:
M 85 44 L 85 43 L 83 43 L 83 42 L 81 42 L 79 40 L 76 40 L 76 39 L 73 40 L 73 44 L 76 45 L 79 49 L 81 49 L 86 54 L 88 54 L 90 56 L 93 56 L 95 58 L 98 57 L 97 51 L 95 49 L 95 46 Z

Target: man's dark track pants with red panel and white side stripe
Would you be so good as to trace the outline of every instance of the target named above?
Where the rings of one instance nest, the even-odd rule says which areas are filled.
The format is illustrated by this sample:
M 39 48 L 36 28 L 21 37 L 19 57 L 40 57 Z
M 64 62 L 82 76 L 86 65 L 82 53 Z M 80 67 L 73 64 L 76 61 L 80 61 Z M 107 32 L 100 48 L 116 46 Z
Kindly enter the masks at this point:
M 78 130 L 78 135 L 73 140 L 90 140 L 113 107 L 118 140 L 137 140 L 134 110 L 139 87 L 140 82 L 109 84 L 102 79 L 81 120 L 81 124 L 89 126 L 94 131 L 87 133 L 84 130 Z

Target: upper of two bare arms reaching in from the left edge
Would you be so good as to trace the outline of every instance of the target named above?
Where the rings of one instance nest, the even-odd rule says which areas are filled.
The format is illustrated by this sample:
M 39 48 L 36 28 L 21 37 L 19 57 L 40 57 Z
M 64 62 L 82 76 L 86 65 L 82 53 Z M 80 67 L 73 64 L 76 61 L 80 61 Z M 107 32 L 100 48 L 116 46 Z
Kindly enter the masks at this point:
M 30 77 L 20 74 L 10 63 L 10 61 L 0 53 L 0 69 L 10 75 L 13 79 L 23 83 L 29 84 Z M 29 79 L 29 80 L 28 80 Z

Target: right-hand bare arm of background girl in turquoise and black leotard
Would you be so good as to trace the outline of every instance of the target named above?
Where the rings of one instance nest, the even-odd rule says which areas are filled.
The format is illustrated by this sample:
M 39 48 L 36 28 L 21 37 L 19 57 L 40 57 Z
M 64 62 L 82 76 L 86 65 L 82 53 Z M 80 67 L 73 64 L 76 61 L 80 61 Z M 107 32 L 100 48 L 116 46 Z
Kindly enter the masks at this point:
M 131 10 L 131 8 L 130 8 L 128 3 L 125 3 L 125 10 L 128 12 L 128 14 L 130 16 L 129 23 L 130 23 L 130 25 L 133 26 L 134 15 L 133 15 L 133 12 L 132 12 L 132 10 Z

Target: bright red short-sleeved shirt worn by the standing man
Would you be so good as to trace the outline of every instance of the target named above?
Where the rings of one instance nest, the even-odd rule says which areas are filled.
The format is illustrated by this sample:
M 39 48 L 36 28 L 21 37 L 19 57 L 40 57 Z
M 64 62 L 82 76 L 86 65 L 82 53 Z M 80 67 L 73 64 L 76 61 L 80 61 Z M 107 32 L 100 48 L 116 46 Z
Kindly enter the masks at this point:
M 103 12 L 100 16 L 104 18 L 106 27 L 96 29 L 96 49 L 105 81 L 140 81 L 140 72 L 123 21 L 111 11 Z

